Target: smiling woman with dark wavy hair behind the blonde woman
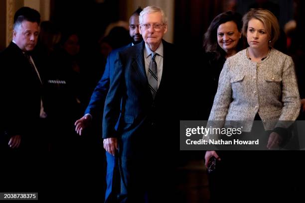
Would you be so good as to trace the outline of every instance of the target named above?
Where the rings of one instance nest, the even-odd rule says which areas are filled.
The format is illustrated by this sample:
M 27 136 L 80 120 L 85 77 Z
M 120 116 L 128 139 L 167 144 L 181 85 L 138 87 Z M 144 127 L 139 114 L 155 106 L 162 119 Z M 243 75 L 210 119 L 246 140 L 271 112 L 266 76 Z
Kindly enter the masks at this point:
M 217 15 L 204 34 L 209 90 L 207 92 L 207 113 L 210 112 L 218 87 L 218 78 L 226 59 L 243 48 L 242 16 L 233 11 Z M 208 115 L 206 115 L 207 117 Z

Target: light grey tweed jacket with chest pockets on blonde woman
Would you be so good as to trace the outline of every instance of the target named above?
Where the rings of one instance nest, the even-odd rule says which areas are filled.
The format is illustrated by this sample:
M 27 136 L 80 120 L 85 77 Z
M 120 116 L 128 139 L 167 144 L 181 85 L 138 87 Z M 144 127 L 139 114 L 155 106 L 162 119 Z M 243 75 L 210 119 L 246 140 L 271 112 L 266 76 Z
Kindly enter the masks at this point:
M 250 132 L 258 112 L 266 130 L 285 127 L 279 120 L 295 120 L 301 107 L 292 58 L 272 48 L 265 60 L 256 63 L 246 51 L 226 60 L 209 120 L 252 121 L 243 126 Z

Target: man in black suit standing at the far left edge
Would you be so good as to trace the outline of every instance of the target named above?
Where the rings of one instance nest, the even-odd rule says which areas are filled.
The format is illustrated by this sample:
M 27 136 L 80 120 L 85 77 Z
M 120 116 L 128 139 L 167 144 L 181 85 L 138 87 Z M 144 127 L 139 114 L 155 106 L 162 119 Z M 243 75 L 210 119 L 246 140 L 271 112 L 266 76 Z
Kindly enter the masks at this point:
M 31 164 L 25 160 L 29 161 L 29 157 L 34 155 L 31 152 L 35 152 L 34 149 L 40 144 L 35 130 L 39 126 L 39 119 L 46 116 L 42 102 L 42 79 L 35 57 L 31 56 L 38 39 L 39 23 L 38 11 L 29 7 L 17 10 L 14 15 L 12 42 L 0 54 L 0 150 L 4 151 L 0 154 L 7 158 L 8 162 L 3 163 L 6 163 L 5 168 L 9 174 L 13 174 L 7 178 L 8 184 L 13 184 L 13 190 L 19 184 L 29 187 L 32 181 L 26 182 L 26 177 L 35 181 L 35 177 L 31 175 L 34 175 L 35 169 L 32 166 L 37 164 L 37 157 Z M 22 164 L 30 166 L 23 166 L 21 170 Z

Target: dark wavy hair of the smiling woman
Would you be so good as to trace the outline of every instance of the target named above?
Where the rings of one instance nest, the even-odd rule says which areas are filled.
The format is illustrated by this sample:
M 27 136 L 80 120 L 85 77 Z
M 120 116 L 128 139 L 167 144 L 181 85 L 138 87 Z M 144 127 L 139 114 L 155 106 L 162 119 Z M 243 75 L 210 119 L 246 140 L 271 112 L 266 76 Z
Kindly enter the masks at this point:
M 241 32 L 242 30 L 242 15 L 238 12 L 226 11 L 217 15 L 211 22 L 207 31 L 204 34 L 203 47 L 205 52 L 215 52 L 216 59 L 219 59 L 222 55 L 225 55 L 225 51 L 218 45 L 217 42 L 217 29 L 219 25 L 233 21 L 235 22 L 237 29 Z M 242 48 L 242 40 L 239 40 L 237 50 L 240 51 Z

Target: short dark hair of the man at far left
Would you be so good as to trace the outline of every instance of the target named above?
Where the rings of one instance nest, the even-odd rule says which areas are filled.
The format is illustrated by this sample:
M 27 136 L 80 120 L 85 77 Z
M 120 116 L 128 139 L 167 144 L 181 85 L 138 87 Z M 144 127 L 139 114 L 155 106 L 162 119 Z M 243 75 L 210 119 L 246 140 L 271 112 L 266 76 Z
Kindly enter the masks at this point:
M 30 22 L 37 22 L 37 24 L 40 24 L 40 13 L 30 7 L 21 7 L 19 8 L 14 15 L 14 27 L 16 24 L 22 23 L 24 20 L 30 21 Z

